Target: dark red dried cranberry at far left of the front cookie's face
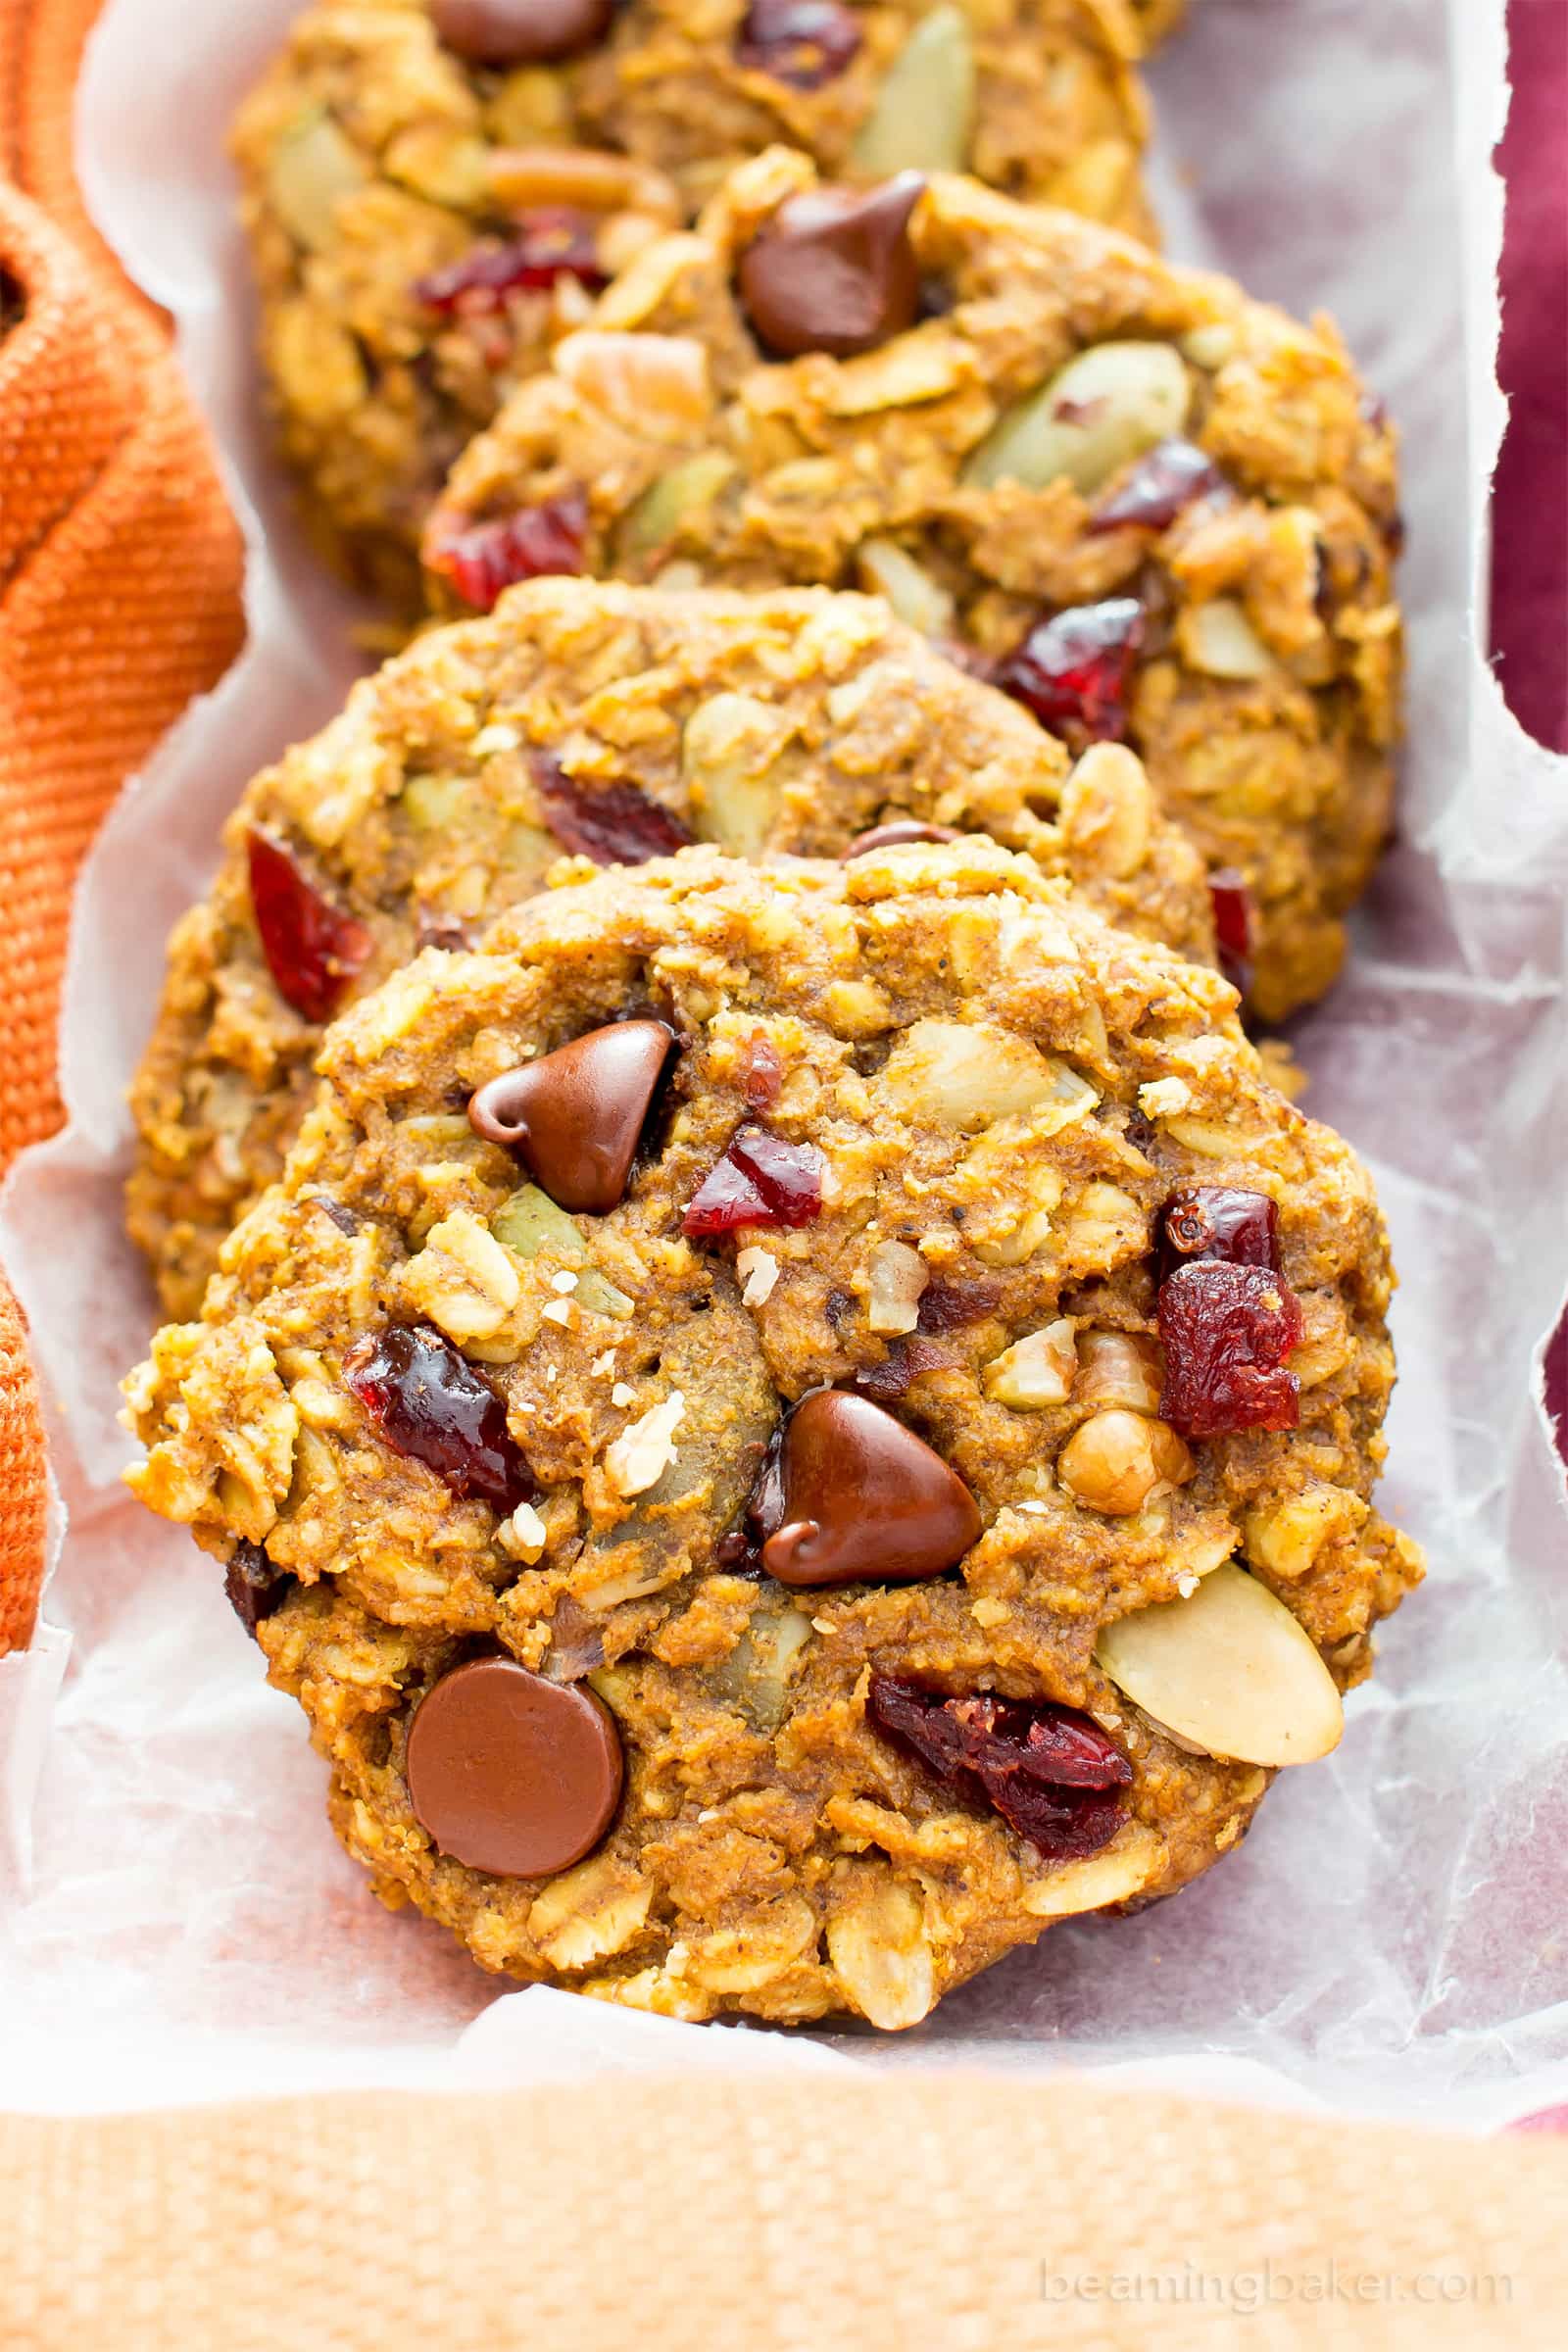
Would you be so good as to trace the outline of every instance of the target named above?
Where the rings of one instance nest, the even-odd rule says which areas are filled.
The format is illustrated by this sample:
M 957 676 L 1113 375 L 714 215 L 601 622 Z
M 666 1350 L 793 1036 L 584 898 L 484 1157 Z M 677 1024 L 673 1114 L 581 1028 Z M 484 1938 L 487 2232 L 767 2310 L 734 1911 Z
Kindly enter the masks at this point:
M 505 1425 L 505 1404 L 449 1338 L 393 1324 L 357 1341 L 343 1381 L 388 1446 L 447 1479 L 456 1496 L 515 1510 L 538 1491 Z

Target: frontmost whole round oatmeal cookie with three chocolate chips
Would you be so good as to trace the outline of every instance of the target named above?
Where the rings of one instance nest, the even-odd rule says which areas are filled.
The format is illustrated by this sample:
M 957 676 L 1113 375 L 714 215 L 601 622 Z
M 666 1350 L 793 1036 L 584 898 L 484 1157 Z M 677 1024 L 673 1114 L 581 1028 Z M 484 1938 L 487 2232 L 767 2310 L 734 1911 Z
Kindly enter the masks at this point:
M 129 1479 L 487 1969 L 914 2025 L 1335 1745 L 1387 1242 L 1215 971 L 978 835 L 689 849 L 317 1068 Z

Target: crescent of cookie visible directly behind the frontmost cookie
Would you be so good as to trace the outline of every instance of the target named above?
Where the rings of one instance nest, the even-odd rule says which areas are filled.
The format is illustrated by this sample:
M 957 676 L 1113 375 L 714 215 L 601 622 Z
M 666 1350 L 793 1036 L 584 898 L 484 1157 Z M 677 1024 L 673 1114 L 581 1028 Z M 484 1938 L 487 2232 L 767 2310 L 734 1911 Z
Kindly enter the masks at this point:
M 552 579 L 425 635 L 252 783 L 169 941 L 129 1181 L 167 1312 L 197 1312 L 277 1174 L 350 993 L 463 946 L 564 856 L 635 863 L 698 835 L 837 856 L 896 821 L 992 833 L 1114 922 L 1213 955 L 1199 858 L 1138 760 L 1103 746 L 1070 771 L 872 597 Z

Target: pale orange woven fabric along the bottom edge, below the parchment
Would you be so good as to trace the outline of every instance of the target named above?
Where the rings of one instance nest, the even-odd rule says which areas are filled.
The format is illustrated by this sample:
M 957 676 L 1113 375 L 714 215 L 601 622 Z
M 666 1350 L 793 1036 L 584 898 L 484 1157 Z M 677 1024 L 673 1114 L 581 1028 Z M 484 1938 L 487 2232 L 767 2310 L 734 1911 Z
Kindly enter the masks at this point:
M 1561 2143 L 1347 2133 L 1070 2079 L 0 2122 L 0 2343 L 1490 2352 L 1568 2333 L 1566 2197 Z

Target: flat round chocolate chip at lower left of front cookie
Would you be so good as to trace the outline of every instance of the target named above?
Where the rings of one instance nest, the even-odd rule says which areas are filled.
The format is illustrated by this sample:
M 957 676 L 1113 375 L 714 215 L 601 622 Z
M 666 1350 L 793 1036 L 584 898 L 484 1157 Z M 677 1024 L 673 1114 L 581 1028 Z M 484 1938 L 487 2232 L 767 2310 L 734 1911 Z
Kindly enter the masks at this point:
M 418 1703 L 404 1771 L 442 1853 L 498 1879 L 543 1879 L 599 1844 L 625 1764 L 609 1708 L 581 1682 L 475 1658 Z

